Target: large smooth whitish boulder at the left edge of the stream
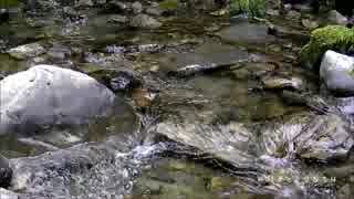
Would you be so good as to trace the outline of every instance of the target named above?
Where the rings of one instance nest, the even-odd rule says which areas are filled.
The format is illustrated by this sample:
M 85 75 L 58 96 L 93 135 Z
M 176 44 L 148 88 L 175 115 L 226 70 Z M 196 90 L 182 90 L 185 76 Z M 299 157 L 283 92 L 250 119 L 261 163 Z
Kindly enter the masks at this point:
M 86 74 L 37 65 L 0 82 L 0 135 L 43 125 L 83 124 L 103 116 L 115 95 Z

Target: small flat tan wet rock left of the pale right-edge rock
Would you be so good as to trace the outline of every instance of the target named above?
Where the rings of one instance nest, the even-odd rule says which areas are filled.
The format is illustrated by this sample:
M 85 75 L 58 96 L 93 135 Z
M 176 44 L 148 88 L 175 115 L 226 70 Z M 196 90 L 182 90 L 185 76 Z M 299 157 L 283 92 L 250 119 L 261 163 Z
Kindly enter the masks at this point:
M 280 90 L 280 88 L 291 88 L 291 90 L 302 90 L 304 87 L 303 81 L 299 77 L 277 77 L 267 76 L 262 78 L 264 88 L 267 90 Z

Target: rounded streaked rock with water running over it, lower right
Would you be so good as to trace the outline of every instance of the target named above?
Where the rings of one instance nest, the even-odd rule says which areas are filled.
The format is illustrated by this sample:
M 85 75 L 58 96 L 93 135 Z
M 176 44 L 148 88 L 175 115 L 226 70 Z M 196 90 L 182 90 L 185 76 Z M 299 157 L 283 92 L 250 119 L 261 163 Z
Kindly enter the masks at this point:
M 275 123 L 277 124 L 277 123 Z M 263 130 L 267 151 L 319 161 L 344 160 L 354 139 L 347 123 L 334 114 L 301 114 Z

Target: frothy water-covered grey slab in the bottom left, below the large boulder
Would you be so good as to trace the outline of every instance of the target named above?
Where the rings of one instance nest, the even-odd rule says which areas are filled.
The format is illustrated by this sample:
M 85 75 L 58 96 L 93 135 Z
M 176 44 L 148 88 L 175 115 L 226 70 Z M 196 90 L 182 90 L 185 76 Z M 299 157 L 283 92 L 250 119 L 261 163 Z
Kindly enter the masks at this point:
M 72 198 L 77 196 L 75 191 L 80 189 L 84 198 L 87 198 L 88 192 L 91 196 L 96 195 L 93 198 L 100 198 L 100 192 L 103 190 L 91 190 L 91 186 L 98 186 L 90 178 L 95 178 L 105 181 L 107 185 L 114 185 L 113 181 L 108 182 L 101 171 L 105 171 L 107 175 L 107 168 L 124 169 L 119 166 L 121 163 L 115 163 L 116 149 L 112 144 L 105 143 L 104 145 L 96 144 L 82 144 L 74 147 L 56 150 L 52 153 L 42 154 L 34 157 L 23 157 L 11 159 L 13 165 L 13 178 L 11 190 L 21 190 L 21 198 Z M 102 164 L 100 166 L 100 164 Z M 106 170 L 105 170 L 106 169 Z M 96 174 L 95 174 L 96 171 Z M 98 175 L 100 174 L 100 175 Z M 122 182 L 124 176 L 115 170 L 115 174 L 110 174 L 111 178 L 115 178 L 116 181 Z M 81 179 L 87 179 L 81 181 Z M 101 186 L 102 186 L 102 182 Z M 81 186 L 67 186 L 67 185 L 86 185 Z M 65 186 L 66 185 L 66 186 Z M 41 191 L 38 188 L 41 187 Z M 106 190 L 105 190 L 106 191 Z M 122 191 L 122 190 L 116 190 Z M 75 195 L 76 193 L 76 195 Z M 43 197 L 45 195 L 45 197 Z M 102 192 L 101 192 L 102 196 Z

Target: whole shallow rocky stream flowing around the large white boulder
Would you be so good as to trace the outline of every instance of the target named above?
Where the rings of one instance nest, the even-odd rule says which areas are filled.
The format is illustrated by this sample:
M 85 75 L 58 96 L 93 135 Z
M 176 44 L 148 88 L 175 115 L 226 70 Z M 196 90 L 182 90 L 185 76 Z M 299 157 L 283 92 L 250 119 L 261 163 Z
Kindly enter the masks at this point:
M 13 169 L 0 198 L 354 197 L 345 119 L 284 97 L 320 93 L 317 74 L 298 62 L 309 39 L 300 24 L 270 17 L 285 32 L 274 36 L 244 15 L 190 10 L 158 18 L 158 29 L 112 22 L 114 14 L 98 8 L 10 17 L 0 23 L 1 78 L 51 64 L 104 84 L 117 74 L 138 83 L 115 92 L 107 117 L 0 135 Z M 7 53 L 28 43 L 44 52 L 20 60 Z M 322 149 L 312 132 L 342 143 Z

